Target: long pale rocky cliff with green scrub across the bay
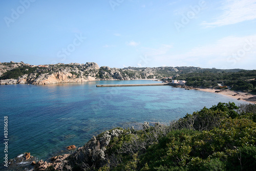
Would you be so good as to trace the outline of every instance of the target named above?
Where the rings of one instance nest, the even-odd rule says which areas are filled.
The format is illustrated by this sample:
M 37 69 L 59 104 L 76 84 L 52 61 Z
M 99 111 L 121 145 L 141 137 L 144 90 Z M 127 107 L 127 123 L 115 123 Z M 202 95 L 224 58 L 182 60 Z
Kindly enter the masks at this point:
M 200 70 L 188 67 L 186 70 Z M 179 70 L 174 67 L 123 69 L 99 67 L 95 62 L 57 63 L 56 65 L 32 66 L 24 62 L 0 63 L 0 84 L 31 83 L 53 84 L 63 82 L 86 82 L 96 80 L 152 79 L 173 76 Z

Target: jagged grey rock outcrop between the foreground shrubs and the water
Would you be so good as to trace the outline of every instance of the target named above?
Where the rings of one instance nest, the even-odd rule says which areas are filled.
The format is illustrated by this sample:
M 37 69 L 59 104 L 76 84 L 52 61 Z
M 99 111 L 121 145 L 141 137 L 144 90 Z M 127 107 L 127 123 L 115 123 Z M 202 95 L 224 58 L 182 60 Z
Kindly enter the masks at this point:
M 34 170 L 41 171 L 47 169 L 63 170 L 63 168 L 72 168 L 72 164 L 81 165 L 82 167 L 104 166 L 108 160 L 105 151 L 109 147 L 111 140 L 123 134 L 122 129 L 113 129 L 106 131 L 88 141 L 85 145 L 78 148 L 73 154 L 65 154 L 52 157 L 48 162 L 40 160 L 34 162 Z M 73 145 L 69 147 L 74 147 Z

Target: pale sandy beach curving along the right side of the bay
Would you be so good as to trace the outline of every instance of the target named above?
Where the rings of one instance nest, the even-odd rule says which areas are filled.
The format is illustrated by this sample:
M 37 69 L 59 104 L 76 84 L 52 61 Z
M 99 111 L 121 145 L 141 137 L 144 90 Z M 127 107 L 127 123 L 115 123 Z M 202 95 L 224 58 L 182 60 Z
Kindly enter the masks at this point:
M 217 89 L 197 89 L 199 91 L 204 91 L 204 92 L 210 92 L 210 93 L 216 93 L 215 91 L 220 91 Z M 237 92 L 237 91 L 231 91 L 231 90 L 221 90 L 218 94 L 221 94 L 223 96 L 231 97 L 234 99 L 239 99 L 256 104 L 256 95 L 251 95 L 249 93 L 243 93 L 243 92 Z M 235 95 L 235 96 L 234 96 Z

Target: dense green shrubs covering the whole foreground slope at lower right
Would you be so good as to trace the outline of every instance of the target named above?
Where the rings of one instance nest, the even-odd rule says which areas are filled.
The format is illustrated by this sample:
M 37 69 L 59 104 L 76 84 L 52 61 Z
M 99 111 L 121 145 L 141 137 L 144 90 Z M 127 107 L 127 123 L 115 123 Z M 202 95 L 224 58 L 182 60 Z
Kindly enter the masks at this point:
M 229 102 L 168 126 L 144 122 L 142 130 L 118 128 L 120 134 L 102 148 L 103 158 L 89 162 L 71 155 L 61 170 L 255 170 L 255 121 L 255 104 Z

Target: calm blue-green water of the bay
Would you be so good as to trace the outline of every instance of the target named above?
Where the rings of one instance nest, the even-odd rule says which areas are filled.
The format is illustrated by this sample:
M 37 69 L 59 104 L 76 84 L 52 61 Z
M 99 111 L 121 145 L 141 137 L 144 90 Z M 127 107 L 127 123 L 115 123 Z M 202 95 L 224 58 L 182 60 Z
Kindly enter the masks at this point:
M 136 127 L 143 121 L 168 124 L 220 101 L 241 103 L 219 94 L 170 86 L 96 88 L 96 84 L 122 83 L 157 81 L 1 85 L 1 149 L 4 116 L 9 118 L 9 159 L 24 152 L 47 159 L 113 127 Z

